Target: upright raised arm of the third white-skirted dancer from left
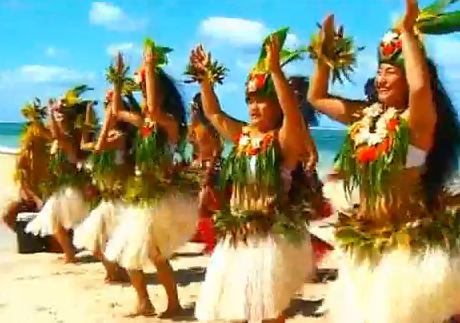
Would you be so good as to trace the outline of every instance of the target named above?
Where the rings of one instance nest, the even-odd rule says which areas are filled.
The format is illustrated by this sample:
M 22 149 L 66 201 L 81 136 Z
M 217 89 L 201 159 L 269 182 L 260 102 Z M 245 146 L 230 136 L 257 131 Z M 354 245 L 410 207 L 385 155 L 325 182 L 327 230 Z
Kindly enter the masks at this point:
M 144 64 L 148 116 L 166 131 L 170 142 L 176 143 L 179 140 L 179 124 L 171 114 L 165 113 L 161 109 L 162 100 L 159 96 L 165 94 L 158 91 L 156 57 L 154 57 L 151 47 L 145 49 Z

